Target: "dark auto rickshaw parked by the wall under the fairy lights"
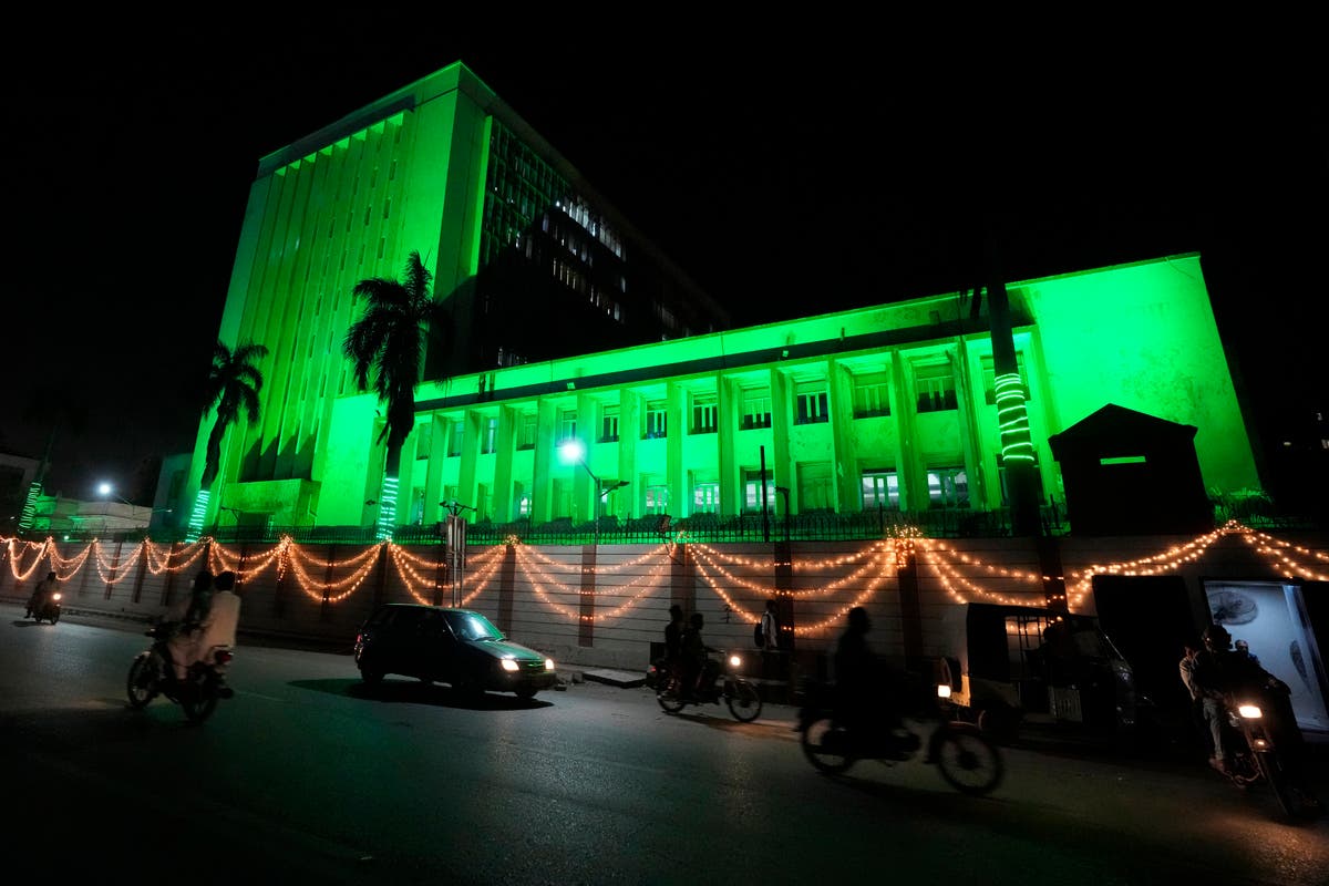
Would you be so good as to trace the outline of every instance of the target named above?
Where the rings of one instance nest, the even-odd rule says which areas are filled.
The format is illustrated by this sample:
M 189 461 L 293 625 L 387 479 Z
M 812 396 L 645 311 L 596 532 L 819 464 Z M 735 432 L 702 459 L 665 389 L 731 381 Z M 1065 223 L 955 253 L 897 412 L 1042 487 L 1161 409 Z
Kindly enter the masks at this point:
M 994 740 L 1034 723 L 1092 735 L 1135 727 L 1131 665 L 1092 615 L 966 603 L 946 614 L 945 628 L 938 681 L 948 704 Z

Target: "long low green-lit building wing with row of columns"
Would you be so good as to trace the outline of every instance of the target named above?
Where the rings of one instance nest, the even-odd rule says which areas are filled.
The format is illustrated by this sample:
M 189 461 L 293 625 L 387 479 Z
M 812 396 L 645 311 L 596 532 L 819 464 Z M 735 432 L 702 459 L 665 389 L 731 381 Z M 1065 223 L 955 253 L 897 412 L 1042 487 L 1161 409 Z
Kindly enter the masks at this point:
M 1257 482 L 1197 256 L 1009 294 L 1045 501 L 1065 501 L 1049 438 L 1106 404 L 1193 425 L 1213 493 Z M 971 308 L 924 298 L 424 384 L 397 522 L 432 523 L 445 501 L 476 519 L 586 522 L 597 491 L 623 519 L 1003 507 L 991 332 Z M 373 522 L 376 408 L 336 401 L 320 523 Z M 1154 490 L 1122 494 L 1146 507 Z

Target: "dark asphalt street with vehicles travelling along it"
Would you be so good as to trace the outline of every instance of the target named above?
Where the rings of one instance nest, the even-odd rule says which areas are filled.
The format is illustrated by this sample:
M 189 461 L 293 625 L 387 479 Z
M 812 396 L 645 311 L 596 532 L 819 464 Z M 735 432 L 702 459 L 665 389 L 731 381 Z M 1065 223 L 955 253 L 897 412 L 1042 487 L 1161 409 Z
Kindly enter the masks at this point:
M 466 701 L 348 655 L 241 646 L 235 697 L 129 709 L 141 627 L 0 604 L 7 834 L 48 875 L 316 883 L 1321 886 L 1329 821 L 1203 765 L 1005 749 L 989 797 L 914 760 L 816 773 L 792 708 L 739 724 L 646 688 Z M 520 638 L 517 638 L 520 640 Z M 1317 784 L 1321 796 L 1325 785 Z

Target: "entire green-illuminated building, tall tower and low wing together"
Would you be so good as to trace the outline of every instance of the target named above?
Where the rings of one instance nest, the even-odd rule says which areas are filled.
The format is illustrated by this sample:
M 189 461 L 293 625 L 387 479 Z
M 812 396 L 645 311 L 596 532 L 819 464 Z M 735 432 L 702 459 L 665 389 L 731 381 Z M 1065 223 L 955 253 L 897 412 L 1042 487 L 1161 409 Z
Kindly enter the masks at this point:
M 412 250 L 456 323 L 425 355 L 397 525 L 443 502 L 494 522 L 723 517 L 763 491 L 776 513 L 997 510 L 1010 458 L 1063 501 L 1049 437 L 1108 404 L 1197 428 L 1211 493 L 1259 485 L 1196 255 L 1007 284 L 1018 379 L 994 377 L 990 300 L 969 294 L 731 329 L 453 65 L 262 161 L 219 337 L 267 345 L 264 400 L 226 438 L 209 522 L 377 521 L 381 404 L 340 344 L 354 286 Z

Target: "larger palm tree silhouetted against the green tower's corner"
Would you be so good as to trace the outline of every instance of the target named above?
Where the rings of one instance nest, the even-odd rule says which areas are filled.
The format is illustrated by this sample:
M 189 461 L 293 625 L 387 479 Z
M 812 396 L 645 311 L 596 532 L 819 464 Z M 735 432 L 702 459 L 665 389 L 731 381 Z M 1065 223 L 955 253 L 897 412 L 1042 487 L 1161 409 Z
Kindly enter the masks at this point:
M 415 388 L 425 335 L 431 325 L 448 323 L 443 304 L 429 294 L 432 282 L 420 252 L 412 250 L 400 282 L 372 278 L 356 283 L 354 295 L 367 299 L 364 315 L 351 324 L 342 343 L 342 352 L 355 363 L 360 391 L 369 389 L 369 369 L 373 369 L 373 392 L 387 405 L 379 442 L 387 440 L 385 476 L 393 481 L 401 464 L 401 445 L 415 425 Z

